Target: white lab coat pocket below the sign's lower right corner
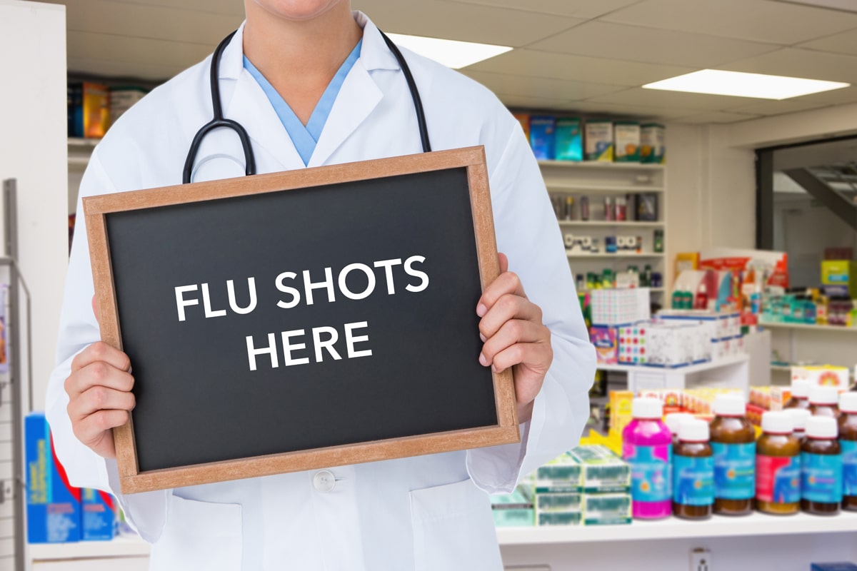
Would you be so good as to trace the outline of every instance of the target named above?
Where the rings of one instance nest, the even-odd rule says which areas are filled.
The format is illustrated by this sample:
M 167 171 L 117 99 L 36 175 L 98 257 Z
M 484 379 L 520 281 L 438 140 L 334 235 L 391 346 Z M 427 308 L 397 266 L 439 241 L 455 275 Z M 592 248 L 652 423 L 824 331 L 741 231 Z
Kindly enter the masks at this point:
M 470 479 L 411 491 L 417 571 L 503 568 L 488 495 Z

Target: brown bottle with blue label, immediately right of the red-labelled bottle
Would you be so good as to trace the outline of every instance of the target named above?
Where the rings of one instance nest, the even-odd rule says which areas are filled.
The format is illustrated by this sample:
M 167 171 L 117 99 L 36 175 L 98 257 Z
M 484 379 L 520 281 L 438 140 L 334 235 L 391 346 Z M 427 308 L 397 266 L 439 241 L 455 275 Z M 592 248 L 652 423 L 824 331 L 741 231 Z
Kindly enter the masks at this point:
M 842 503 L 842 449 L 836 440 L 836 419 L 806 420 L 800 445 L 800 509 L 807 514 L 839 513 Z

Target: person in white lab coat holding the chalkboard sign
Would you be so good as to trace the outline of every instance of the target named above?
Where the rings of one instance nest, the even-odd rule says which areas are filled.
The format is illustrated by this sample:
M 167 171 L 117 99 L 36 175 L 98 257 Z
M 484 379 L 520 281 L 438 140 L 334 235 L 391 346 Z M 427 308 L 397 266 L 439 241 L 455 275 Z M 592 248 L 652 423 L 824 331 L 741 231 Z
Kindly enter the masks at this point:
M 218 83 L 225 116 L 249 132 L 257 172 L 422 151 L 402 66 L 348 0 L 245 0 L 245 9 Z M 515 273 L 501 257 L 504 273 L 473 311 L 482 318 L 482 364 L 514 367 L 522 443 L 332 467 L 328 478 L 288 473 L 119 496 L 153 543 L 153 569 L 498 571 L 486 492 L 511 491 L 578 441 L 595 354 L 527 140 L 491 92 L 404 55 L 432 147 L 486 149 L 498 247 Z M 94 150 L 81 195 L 180 183 L 191 140 L 212 117 L 209 67 L 210 58 L 129 110 Z M 243 174 L 237 136 L 208 134 L 193 180 Z M 107 429 L 134 405 L 133 364 L 97 342 L 85 236 L 78 229 L 72 248 L 46 410 L 71 482 L 118 495 Z

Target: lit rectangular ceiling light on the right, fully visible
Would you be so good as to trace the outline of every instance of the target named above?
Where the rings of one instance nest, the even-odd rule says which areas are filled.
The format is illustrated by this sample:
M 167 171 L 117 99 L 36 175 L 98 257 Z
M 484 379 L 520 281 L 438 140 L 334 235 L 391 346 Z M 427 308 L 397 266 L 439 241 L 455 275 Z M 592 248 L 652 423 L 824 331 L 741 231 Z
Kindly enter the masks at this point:
M 673 92 L 710 93 L 760 99 L 788 99 L 848 87 L 848 83 L 804 80 L 782 75 L 745 74 L 738 71 L 703 69 L 668 80 L 644 85 L 645 89 Z

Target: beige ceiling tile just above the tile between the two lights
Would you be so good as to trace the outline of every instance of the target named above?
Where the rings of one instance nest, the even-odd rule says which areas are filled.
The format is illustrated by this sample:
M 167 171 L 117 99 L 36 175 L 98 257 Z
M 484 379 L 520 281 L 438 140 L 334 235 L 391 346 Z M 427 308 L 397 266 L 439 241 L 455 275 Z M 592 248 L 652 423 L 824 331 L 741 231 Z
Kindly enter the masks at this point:
M 530 44 L 527 49 L 632 62 L 711 68 L 736 59 L 775 51 L 779 47 L 775 44 L 717 38 L 698 33 L 590 21 Z

